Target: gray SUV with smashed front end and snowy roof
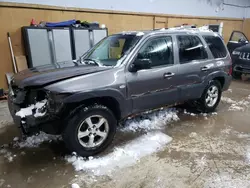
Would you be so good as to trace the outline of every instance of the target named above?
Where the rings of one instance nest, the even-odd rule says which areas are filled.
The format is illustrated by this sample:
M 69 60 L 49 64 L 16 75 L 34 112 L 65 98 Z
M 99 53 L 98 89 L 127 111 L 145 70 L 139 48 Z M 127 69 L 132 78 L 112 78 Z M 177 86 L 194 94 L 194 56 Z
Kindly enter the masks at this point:
M 229 88 L 232 65 L 210 31 L 158 30 L 108 36 L 78 60 L 16 74 L 9 109 L 24 134 L 61 134 L 81 156 L 103 151 L 120 120 L 190 102 L 212 112 Z

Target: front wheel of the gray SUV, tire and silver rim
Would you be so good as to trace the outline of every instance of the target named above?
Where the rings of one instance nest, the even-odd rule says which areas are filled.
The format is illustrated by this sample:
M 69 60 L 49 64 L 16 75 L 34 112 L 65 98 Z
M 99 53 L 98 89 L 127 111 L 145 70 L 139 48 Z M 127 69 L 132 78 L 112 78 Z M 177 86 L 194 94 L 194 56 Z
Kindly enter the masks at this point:
M 63 131 L 63 140 L 71 152 L 82 157 L 93 156 L 111 144 L 116 127 L 117 120 L 107 107 L 83 107 L 69 119 Z

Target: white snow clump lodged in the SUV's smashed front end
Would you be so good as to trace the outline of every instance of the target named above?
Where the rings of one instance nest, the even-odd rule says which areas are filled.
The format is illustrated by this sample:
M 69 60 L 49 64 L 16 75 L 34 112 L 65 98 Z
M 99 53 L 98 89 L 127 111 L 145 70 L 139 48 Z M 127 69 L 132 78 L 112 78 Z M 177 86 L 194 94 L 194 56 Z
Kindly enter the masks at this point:
M 42 112 L 42 108 L 46 105 L 47 100 L 43 100 L 40 102 L 37 102 L 36 104 L 32 104 L 27 108 L 21 108 L 17 113 L 16 116 L 20 116 L 21 118 L 24 118 L 26 116 L 30 116 L 34 113 L 35 117 L 41 117 L 45 115 L 45 112 Z

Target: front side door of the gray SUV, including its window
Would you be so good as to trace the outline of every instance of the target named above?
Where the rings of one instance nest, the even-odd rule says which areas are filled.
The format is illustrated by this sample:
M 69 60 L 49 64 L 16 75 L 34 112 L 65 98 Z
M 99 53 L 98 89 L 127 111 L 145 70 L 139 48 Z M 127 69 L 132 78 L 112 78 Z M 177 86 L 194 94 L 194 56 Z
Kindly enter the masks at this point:
M 174 61 L 172 37 L 148 39 L 131 62 L 149 59 L 151 68 L 127 72 L 128 97 L 133 102 L 133 113 L 154 109 L 178 101 L 176 78 L 178 68 Z

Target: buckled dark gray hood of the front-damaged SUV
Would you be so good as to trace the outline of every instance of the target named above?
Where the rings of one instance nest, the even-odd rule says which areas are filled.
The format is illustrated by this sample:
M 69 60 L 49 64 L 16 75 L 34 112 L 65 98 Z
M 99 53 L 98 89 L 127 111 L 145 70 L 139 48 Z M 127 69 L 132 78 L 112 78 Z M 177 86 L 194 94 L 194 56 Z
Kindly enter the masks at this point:
M 21 71 L 14 75 L 12 85 L 24 88 L 27 86 L 43 86 L 67 78 L 82 76 L 109 70 L 111 67 L 83 65 L 74 61 L 39 66 Z

